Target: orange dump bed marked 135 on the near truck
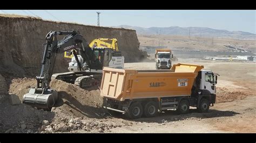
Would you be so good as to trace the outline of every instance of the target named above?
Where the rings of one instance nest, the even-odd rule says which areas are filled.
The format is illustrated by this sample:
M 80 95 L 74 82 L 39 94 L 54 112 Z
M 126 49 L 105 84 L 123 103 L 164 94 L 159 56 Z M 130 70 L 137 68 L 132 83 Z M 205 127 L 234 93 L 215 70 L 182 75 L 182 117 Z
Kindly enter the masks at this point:
M 190 96 L 198 71 L 204 66 L 173 65 L 171 70 L 103 68 L 102 97 L 124 101 L 133 98 Z

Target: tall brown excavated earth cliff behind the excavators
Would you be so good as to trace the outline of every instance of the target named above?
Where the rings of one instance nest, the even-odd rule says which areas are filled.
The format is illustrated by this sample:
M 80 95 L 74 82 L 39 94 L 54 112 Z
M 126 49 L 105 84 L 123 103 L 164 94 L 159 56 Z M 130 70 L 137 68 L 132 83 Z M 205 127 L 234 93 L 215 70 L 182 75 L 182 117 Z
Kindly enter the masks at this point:
M 87 42 L 96 38 L 116 38 L 125 62 L 138 62 L 146 57 L 139 50 L 136 31 L 124 28 L 57 23 L 31 17 L 0 15 L 0 73 L 6 76 L 29 77 L 39 71 L 42 45 L 50 31 L 78 30 Z M 58 39 L 62 39 L 59 36 Z M 68 70 L 63 54 L 58 54 L 54 73 Z

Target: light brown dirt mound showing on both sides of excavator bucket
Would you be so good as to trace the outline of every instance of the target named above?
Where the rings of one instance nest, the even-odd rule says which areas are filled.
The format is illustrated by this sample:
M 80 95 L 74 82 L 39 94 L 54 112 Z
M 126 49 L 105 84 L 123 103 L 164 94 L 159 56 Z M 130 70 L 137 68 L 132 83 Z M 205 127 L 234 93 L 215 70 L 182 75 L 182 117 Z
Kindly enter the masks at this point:
M 29 88 L 35 88 L 37 81 L 33 78 L 14 78 L 11 80 L 9 94 L 15 94 L 22 101 Z M 56 109 L 66 115 L 76 117 L 98 117 L 103 112 L 102 98 L 97 87 L 85 90 L 74 84 L 52 80 L 50 87 L 58 91 Z

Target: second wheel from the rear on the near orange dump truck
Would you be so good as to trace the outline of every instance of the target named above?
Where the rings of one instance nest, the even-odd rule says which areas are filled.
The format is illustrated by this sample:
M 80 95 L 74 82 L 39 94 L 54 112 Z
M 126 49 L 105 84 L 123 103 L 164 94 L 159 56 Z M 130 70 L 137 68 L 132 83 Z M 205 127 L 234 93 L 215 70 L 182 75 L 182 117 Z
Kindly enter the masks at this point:
M 157 115 L 158 105 L 156 102 L 149 102 L 144 105 L 143 115 L 147 118 Z

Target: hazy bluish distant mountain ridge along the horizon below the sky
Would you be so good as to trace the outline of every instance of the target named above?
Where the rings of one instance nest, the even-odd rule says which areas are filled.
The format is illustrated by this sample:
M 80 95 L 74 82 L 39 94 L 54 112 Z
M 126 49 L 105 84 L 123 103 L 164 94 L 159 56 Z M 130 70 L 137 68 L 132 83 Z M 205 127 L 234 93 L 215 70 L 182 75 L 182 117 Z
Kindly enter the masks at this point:
M 215 30 L 207 27 L 137 27 L 129 25 L 113 26 L 116 28 L 127 28 L 136 30 L 140 35 L 191 35 L 198 37 L 232 38 L 240 40 L 256 40 L 256 34 L 242 31 Z

